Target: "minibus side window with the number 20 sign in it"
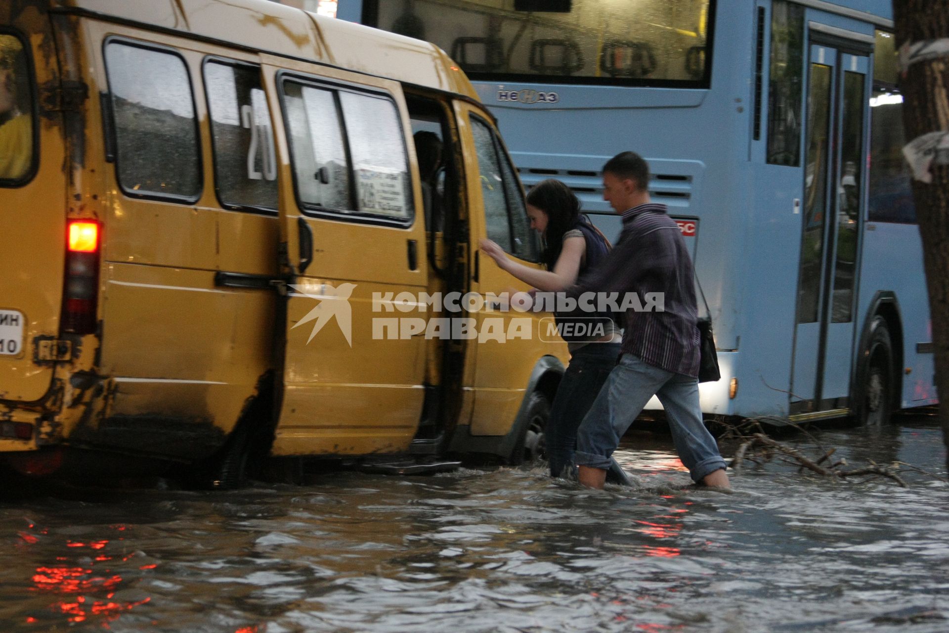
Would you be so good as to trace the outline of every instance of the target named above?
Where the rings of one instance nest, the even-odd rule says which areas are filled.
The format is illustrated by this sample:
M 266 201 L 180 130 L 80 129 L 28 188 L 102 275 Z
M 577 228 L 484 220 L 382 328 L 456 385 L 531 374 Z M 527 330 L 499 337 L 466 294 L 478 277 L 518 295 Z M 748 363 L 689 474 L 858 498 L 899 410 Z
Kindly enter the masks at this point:
M 209 61 L 204 84 L 221 204 L 275 210 L 277 159 L 260 68 Z

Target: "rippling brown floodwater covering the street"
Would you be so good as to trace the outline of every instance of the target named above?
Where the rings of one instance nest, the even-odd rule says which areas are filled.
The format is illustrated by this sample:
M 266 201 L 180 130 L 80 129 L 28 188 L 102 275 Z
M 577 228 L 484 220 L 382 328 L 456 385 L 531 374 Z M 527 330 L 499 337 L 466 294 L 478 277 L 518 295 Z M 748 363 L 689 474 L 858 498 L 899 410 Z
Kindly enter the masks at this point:
M 817 439 L 853 467 L 944 475 L 931 420 Z M 629 436 L 617 457 L 640 487 L 592 492 L 535 466 L 8 491 L 0 629 L 949 630 L 946 483 L 748 463 L 728 494 L 690 487 L 665 435 Z

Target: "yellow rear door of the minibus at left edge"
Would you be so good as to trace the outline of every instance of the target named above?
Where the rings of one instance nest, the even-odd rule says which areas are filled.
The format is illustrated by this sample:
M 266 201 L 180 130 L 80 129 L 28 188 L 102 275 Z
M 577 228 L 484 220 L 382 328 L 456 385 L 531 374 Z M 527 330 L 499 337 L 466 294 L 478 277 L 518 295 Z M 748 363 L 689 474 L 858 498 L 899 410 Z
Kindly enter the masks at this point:
M 0 4 L 0 400 L 35 401 L 59 358 L 65 153 L 52 31 L 26 6 Z

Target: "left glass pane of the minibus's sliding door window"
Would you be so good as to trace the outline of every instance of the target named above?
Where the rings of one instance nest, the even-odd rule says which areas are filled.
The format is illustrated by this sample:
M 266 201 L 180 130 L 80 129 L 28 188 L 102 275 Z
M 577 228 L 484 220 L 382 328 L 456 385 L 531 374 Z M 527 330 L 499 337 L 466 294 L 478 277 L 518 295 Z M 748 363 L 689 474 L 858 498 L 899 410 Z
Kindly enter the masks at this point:
M 301 202 L 325 209 L 352 210 L 349 161 L 333 92 L 286 82 L 284 108 Z

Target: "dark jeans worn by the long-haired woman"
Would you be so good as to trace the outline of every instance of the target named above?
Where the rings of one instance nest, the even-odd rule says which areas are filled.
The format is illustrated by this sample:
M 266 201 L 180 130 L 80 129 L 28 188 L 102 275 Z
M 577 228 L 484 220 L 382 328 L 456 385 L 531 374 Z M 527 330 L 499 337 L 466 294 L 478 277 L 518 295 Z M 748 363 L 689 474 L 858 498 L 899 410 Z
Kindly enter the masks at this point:
M 544 432 L 551 476 L 560 476 L 564 466 L 573 461 L 577 428 L 616 366 L 619 355 L 619 343 L 590 343 L 570 355 L 567 371 L 550 405 Z

